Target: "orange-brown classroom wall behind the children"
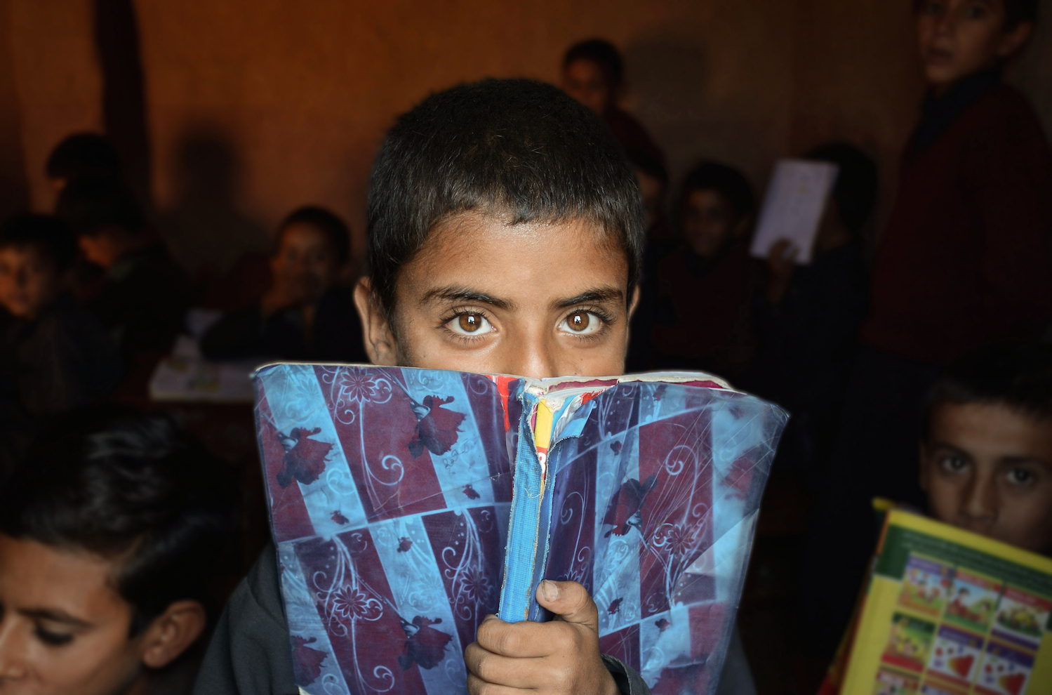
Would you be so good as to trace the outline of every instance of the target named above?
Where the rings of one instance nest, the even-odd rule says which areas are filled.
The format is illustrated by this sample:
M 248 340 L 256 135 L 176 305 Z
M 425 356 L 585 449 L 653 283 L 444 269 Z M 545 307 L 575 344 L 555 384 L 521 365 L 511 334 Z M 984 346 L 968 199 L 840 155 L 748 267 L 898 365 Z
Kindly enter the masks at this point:
M 11 57 L 6 66 L 0 58 L 0 126 L 20 128 L 7 137 L 21 142 L 23 185 L 47 208 L 47 152 L 102 123 L 93 3 L 0 3 Z M 277 221 L 308 202 L 345 215 L 361 251 L 369 163 L 398 113 L 485 76 L 558 81 L 563 51 L 582 38 L 623 49 L 625 105 L 666 150 L 673 176 L 713 157 L 760 186 L 775 158 L 846 137 L 878 158 L 884 208 L 923 90 L 909 0 L 136 0 L 134 8 L 153 195 L 191 266 L 225 266 L 242 250 L 266 247 Z M 1030 70 L 1039 93 L 1044 67 Z M 9 150 L 0 138 L 0 159 Z

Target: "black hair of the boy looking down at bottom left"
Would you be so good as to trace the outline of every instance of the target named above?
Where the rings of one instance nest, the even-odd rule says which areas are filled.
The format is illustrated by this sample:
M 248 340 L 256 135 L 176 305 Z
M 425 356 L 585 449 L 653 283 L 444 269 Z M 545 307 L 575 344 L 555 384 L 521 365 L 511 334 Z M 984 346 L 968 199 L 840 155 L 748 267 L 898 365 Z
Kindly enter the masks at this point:
M 119 559 L 133 635 L 174 601 L 208 605 L 237 519 L 228 466 L 170 418 L 115 408 L 43 432 L 0 490 L 0 533 Z

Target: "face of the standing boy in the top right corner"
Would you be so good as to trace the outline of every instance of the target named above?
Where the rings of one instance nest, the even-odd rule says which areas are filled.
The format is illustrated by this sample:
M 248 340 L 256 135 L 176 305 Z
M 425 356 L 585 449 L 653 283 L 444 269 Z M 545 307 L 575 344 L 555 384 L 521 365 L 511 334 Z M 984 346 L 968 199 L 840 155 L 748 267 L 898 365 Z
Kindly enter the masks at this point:
M 916 24 L 925 77 L 936 93 L 1015 53 L 1031 28 L 1005 31 L 1005 0 L 926 0 Z

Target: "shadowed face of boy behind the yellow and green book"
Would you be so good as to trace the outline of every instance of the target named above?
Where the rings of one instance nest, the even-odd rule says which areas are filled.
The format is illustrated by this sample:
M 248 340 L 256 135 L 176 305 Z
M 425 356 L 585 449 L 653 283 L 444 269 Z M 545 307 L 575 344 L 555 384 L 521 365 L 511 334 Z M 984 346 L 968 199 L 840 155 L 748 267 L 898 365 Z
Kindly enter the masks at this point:
M 946 403 L 920 446 L 920 486 L 942 521 L 1052 550 L 1052 422 L 1004 404 Z

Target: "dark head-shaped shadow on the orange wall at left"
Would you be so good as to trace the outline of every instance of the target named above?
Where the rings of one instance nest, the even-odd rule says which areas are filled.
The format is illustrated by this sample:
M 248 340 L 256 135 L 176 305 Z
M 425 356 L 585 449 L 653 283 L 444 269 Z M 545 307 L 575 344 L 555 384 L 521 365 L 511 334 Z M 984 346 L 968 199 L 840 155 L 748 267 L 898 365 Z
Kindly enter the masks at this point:
M 225 136 L 196 128 L 177 147 L 175 203 L 160 227 L 176 259 L 207 284 L 242 255 L 268 250 L 270 235 L 238 210 L 241 162 Z

